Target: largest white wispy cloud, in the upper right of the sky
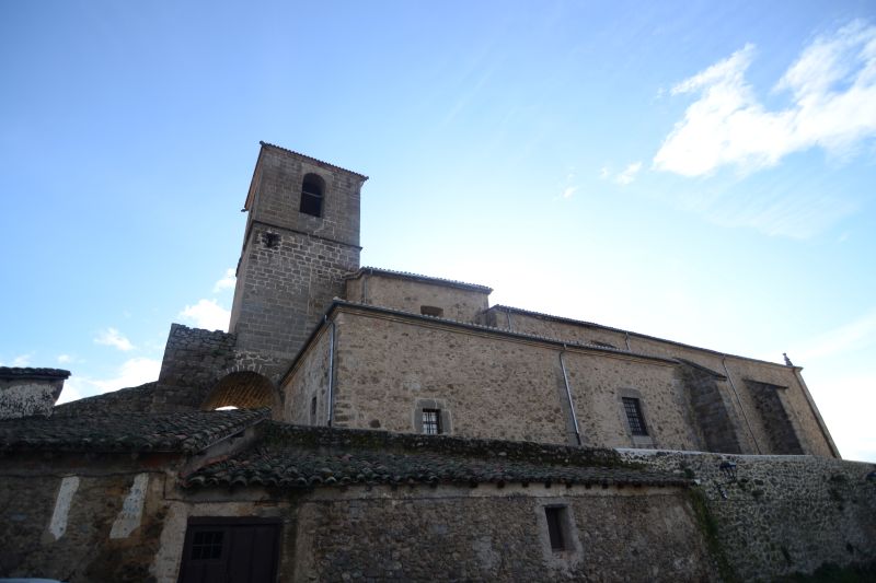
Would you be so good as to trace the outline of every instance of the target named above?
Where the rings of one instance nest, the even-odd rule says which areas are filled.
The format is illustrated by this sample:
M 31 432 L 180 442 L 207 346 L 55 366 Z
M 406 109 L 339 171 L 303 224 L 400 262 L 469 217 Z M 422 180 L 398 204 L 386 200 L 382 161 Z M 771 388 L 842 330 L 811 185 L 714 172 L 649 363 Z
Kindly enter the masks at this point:
M 655 154 L 655 170 L 702 176 L 730 165 L 749 173 L 815 147 L 843 155 L 876 136 L 876 26 L 855 21 L 816 38 L 775 85 L 792 96 L 775 112 L 746 81 L 754 56 L 747 45 L 672 88 L 672 95 L 699 98 Z

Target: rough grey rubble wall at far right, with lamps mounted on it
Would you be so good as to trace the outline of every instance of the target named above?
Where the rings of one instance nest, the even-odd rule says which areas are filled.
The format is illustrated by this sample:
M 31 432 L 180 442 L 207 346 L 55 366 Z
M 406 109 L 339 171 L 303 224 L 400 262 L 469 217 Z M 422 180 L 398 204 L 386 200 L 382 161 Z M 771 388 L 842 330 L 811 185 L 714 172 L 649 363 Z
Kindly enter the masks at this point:
M 812 456 L 621 452 L 627 460 L 694 478 L 714 540 L 742 581 L 876 560 L 873 464 Z M 736 481 L 719 469 L 736 466 Z

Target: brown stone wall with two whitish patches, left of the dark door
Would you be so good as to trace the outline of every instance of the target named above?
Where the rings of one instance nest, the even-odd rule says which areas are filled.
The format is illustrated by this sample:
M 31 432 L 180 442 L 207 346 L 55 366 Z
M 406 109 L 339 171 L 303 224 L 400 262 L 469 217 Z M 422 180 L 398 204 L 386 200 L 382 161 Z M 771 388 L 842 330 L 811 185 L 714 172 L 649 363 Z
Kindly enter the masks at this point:
M 164 481 L 115 470 L 0 464 L 0 578 L 155 581 Z

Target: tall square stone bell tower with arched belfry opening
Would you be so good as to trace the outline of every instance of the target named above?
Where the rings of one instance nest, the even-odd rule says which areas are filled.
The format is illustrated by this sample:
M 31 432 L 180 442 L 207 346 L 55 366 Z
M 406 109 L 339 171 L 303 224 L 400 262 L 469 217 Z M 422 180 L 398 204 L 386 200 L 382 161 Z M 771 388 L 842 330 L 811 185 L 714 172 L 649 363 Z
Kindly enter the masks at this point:
M 359 194 L 367 176 L 261 142 L 229 331 L 237 350 L 286 366 L 343 276 L 359 267 Z

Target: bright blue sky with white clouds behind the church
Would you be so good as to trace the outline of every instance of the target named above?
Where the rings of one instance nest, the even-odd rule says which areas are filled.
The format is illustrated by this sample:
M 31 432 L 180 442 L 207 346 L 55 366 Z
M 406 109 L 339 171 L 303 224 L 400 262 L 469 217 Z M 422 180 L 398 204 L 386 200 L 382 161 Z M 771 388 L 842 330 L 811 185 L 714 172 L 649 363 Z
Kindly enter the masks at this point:
M 258 140 L 362 263 L 781 362 L 876 460 L 876 4 L 0 3 L 0 363 L 62 399 L 227 325 Z

